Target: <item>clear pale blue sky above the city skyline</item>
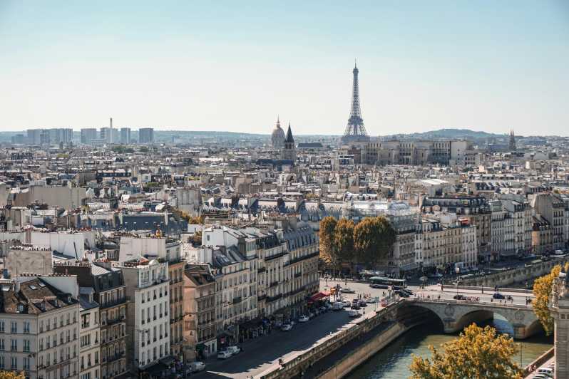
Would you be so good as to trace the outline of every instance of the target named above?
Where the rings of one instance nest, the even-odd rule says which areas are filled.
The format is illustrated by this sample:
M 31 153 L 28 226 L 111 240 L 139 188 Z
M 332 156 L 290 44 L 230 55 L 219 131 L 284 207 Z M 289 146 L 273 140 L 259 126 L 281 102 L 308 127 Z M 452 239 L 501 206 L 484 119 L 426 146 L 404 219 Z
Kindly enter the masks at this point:
M 569 1 L 0 0 L 0 130 L 569 135 Z

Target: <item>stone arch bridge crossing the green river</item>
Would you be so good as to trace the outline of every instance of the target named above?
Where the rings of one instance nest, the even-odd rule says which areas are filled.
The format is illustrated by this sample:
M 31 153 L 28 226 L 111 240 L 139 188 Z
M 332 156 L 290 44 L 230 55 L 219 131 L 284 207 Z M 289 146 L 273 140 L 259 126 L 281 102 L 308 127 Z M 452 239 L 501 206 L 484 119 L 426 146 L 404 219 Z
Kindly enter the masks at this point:
M 434 313 L 441 319 L 445 333 L 456 333 L 471 323 L 490 320 L 494 313 L 511 324 L 515 339 L 528 338 L 542 330 L 531 305 L 437 298 L 404 298 L 401 302 L 408 307 L 428 309 Z

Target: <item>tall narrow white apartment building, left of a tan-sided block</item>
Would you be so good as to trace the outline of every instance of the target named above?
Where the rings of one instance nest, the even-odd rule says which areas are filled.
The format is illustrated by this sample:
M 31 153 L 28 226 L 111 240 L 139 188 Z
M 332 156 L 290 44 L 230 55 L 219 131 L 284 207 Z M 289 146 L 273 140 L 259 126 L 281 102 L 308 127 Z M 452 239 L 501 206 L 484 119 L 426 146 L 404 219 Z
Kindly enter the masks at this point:
M 123 262 L 128 307 L 128 361 L 137 371 L 170 356 L 170 283 L 168 260 Z

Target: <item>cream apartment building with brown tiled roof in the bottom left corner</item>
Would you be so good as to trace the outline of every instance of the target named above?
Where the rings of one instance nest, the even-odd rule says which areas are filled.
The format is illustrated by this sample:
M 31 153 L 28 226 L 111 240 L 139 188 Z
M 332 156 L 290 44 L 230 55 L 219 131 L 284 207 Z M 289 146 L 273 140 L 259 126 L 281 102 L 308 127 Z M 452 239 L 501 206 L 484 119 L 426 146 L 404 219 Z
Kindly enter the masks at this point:
M 78 378 L 76 277 L 21 276 L 0 285 L 0 370 Z

